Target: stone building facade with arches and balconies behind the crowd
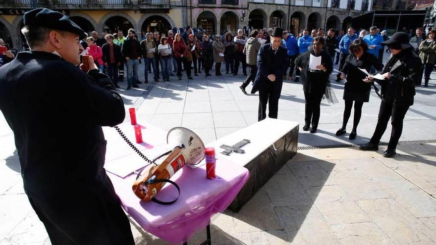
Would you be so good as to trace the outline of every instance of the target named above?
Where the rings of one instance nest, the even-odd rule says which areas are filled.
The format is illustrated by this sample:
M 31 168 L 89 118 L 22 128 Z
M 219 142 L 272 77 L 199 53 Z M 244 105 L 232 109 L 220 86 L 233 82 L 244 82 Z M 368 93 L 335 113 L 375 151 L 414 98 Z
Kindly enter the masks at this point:
M 23 14 L 48 7 L 71 17 L 85 32 L 129 28 L 166 33 L 188 25 L 211 33 L 243 28 L 346 29 L 353 17 L 371 11 L 373 0 L 1 0 L 0 38 L 11 47 L 25 43 Z

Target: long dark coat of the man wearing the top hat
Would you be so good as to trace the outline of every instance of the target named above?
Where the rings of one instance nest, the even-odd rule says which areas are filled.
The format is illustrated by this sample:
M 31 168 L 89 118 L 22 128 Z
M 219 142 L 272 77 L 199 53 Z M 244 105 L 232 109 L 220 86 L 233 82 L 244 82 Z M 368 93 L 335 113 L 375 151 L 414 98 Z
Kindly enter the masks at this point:
M 275 52 L 275 55 L 274 55 Z M 278 95 L 281 93 L 283 85 L 283 74 L 288 67 L 287 50 L 279 46 L 277 51 L 272 49 L 272 44 L 265 44 L 259 49 L 257 55 L 257 74 L 254 79 L 251 94 L 255 94 L 260 89 L 269 89 L 273 86 L 274 92 Z M 274 74 L 275 81 L 271 82 L 268 75 Z

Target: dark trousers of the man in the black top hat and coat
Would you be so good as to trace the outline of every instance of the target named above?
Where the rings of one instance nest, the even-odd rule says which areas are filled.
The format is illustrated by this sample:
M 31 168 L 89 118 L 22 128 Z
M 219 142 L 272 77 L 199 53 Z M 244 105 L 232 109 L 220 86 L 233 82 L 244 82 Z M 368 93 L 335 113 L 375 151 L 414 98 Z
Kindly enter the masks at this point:
M 268 117 L 277 118 L 278 99 L 280 98 L 280 91 L 276 91 L 274 86 L 259 89 L 259 110 L 258 121 L 267 118 L 267 103 L 268 103 Z

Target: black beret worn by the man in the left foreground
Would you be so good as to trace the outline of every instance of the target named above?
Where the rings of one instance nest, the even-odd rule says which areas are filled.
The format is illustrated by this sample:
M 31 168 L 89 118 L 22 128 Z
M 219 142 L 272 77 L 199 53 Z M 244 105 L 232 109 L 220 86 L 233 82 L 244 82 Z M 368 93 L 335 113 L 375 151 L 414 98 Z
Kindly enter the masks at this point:
M 70 18 L 62 13 L 48 8 L 35 8 L 24 13 L 24 25 L 46 27 L 59 31 L 71 32 L 79 35 L 80 39 L 86 38 L 85 32 Z

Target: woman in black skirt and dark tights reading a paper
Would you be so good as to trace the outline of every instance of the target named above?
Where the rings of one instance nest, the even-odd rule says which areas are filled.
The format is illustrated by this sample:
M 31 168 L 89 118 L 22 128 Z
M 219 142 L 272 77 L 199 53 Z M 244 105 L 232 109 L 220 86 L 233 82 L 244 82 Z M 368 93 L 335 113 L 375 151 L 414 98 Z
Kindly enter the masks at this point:
M 371 83 L 363 81 L 368 74 L 360 69 L 368 72 L 371 70 L 371 66 L 374 66 L 378 71 L 381 71 L 383 65 L 373 54 L 367 52 L 368 45 L 361 39 L 354 40 L 350 44 L 349 50 L 350 55 L 345 60 L 342 69 L 340 69 L 342 72 L 341 79 L 343 80 L 346 77 L 347 82 L 345 83 L 343 97 L 345 101 L 344 118 L 342 127 L 336 132 L 336 135 L 339 136 L 346 133 L 346 126 L 354 101 L 354 123 L 349 136 L 350 140 L 354 140 L 357 135 L 357 125 L 362 116 L 363 103 L 369 101 L 371 92 Z

